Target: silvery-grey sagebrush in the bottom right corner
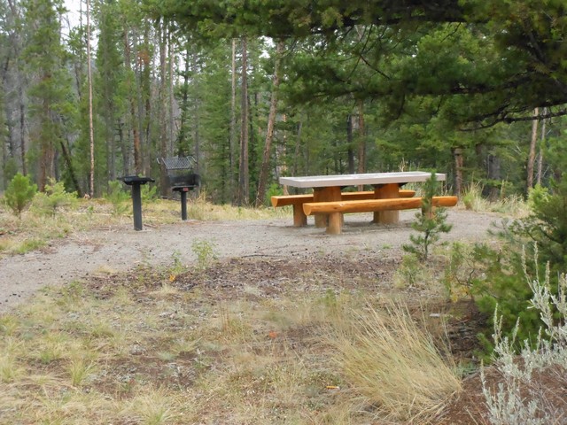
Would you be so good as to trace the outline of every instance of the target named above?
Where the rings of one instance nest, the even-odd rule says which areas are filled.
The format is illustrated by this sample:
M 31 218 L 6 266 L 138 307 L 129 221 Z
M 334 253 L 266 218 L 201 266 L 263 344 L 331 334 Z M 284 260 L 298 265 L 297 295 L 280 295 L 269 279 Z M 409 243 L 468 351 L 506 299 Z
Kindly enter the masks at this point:
M 481 375 L 489 421 L 494 425 L 564 423 L 567 403 L 561 406 L 551 403 L 548 399 L 551 389 L 546 388 L 546 384 L 549 385 L 551 379 L 560 388 L 567 386 L 567 277 L 560 275 L 555 291 L 549 267 L 543 282 L 538 274 L 531 278 L 527 267 L 524 271 L 533 295 L 531 308 L 540 313 L 544 326 L 540 328 L 535 347 L 527 340 L 517 342 L 521 322 L 517 321 L 512 336 L 504 336 L 501 317 L 495 311 L 493 359 L 494 367 L 501 375 L 501 383 L 496 389 L 491 389 L 484 369 Z M 546 383 L 539 383 L 541 376 L 548 376 Z

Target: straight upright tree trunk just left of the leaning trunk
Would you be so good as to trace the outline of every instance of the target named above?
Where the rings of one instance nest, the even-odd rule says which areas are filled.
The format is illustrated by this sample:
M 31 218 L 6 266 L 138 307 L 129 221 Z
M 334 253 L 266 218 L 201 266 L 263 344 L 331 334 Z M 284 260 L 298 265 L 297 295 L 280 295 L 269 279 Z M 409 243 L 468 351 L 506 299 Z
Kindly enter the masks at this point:
M 247 205 L 250 193 L 250 171 L 248 170 L 248 45 L 242 39 L 242 89 L 241 89 L 241 128 L 240 158 L 238 161 L 238 196 L 237 205 Z

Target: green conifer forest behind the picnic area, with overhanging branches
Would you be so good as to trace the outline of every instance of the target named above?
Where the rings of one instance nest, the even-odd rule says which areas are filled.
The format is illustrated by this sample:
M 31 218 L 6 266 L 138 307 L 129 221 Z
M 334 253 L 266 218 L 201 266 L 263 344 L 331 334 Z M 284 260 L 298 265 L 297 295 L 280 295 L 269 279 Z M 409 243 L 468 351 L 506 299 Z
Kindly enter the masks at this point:
M 557 175 L 565 6 L 509 2 L 0 1 L 0 190 L 79 196 L 192 155 L 207 197 L 289 174 L 438 170 L 460 194 Z

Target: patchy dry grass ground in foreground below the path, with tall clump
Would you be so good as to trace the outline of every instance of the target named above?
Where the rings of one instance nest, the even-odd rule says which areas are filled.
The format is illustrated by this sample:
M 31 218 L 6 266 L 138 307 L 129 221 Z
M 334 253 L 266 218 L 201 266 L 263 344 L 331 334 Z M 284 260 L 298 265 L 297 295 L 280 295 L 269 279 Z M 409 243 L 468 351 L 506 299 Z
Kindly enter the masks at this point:
M 249 278 L 207 288 L 206 271 L 170 272 L 72 282 L 0 316 L 0 423 L 404 422 L 458 388 L 408 312 L 385 321 L 363 308 L 368 292 L 307 274 L 276 293 Z M 396 355 L 377 357 L 394 339 Z

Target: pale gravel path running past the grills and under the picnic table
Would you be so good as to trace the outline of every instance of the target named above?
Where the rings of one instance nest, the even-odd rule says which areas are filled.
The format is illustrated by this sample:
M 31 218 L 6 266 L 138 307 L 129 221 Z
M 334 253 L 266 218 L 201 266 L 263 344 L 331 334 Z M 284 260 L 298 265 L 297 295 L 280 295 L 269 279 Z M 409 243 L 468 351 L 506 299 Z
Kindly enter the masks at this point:
M 195 241 L 214 244 L 220 258 L 293 257 L 318 253 L 341 255 L 358 250 L 373 251 L 384 257 L 400 255 L 408 243 L 414 212 L 402 212 L 395 226 L 370 225 L 369 214 L 346 218 L 344 233 L 328 236 L 310 221 L 306 228 L 291 227 L 284 220 L 193 221 L 176 225 L 144 228 L 131 226 L 93 230 L 52 243 L 43 251 L 0 259 L 0 312 L 24 302 L 45 285 L 62 284 L 91 274 L 126 271 L 140 264 L 172 264 L 178 256 L 184 264 L 195 261 Z M 311 219 L 310 219 L 311 220 Z M 445 239 L 480 241 L 485 239 L 498 215 L 451 210 L 452 231 Z

